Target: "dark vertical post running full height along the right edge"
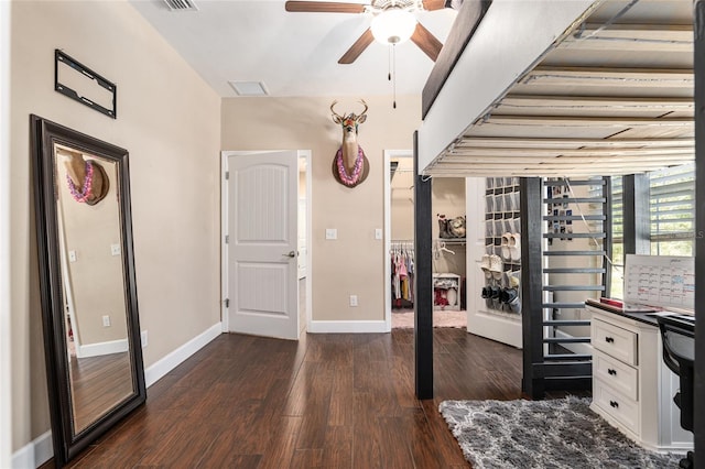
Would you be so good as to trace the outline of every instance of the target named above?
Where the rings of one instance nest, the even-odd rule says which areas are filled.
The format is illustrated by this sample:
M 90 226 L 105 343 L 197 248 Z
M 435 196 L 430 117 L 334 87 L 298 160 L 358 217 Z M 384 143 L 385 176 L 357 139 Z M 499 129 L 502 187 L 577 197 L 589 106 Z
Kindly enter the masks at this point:
M 705 324 L 705 0 L 694 4 L 695 317 Z M 699 317 L 699 319 L 697 319 Z M 695 454 L 705 457 L 705 327 L 695 328 Z

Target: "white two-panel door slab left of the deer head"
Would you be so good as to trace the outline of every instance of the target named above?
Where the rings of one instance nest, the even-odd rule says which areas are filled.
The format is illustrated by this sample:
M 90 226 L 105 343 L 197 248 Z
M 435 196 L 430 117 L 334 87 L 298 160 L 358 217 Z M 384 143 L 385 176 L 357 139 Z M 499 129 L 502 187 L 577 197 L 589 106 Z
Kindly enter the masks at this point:
M 297 152 L 232 152 L 228 172 L 228 329 L 297 339 Z

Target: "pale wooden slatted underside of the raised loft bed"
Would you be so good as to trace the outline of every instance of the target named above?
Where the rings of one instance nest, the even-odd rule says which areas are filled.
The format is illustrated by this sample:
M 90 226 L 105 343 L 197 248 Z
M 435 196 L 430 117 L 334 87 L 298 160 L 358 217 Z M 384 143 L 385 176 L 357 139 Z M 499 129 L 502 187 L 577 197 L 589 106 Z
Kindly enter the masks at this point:
M 589 176 L 695 159 L 688 0 L 603 2 L 424 171 Z

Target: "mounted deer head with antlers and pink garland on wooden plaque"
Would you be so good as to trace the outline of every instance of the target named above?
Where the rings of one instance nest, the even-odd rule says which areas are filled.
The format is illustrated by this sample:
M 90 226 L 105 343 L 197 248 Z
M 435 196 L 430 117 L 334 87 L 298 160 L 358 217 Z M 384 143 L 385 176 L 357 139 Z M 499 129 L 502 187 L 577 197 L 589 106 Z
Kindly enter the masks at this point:
M 360 99 L 365 109 L 359 114 L 350 112 L 340 116 L 333 109 L 338 101 L 333 101 L 330 112 L 333 121 L 343 127 L 343 143 L 333 160 L 333 175 L 345 186 L 355 187 L 362 183 L 369 174 L 369 162 L 362 148 L 357 143 L 357 128 L 367 119 L 367 102 Z

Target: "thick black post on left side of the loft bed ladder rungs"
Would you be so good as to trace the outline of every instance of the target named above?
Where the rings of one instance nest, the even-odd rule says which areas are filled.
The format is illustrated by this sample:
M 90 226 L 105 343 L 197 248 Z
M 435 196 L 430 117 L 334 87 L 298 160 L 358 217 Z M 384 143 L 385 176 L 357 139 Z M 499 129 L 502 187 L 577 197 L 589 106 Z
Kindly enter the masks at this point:
M 532 399 L 544 393 L 543 363 L 542 187 L 539 177 L 522 177 L 521 206 L 521 328 L 523 348 L 522 391 Z

